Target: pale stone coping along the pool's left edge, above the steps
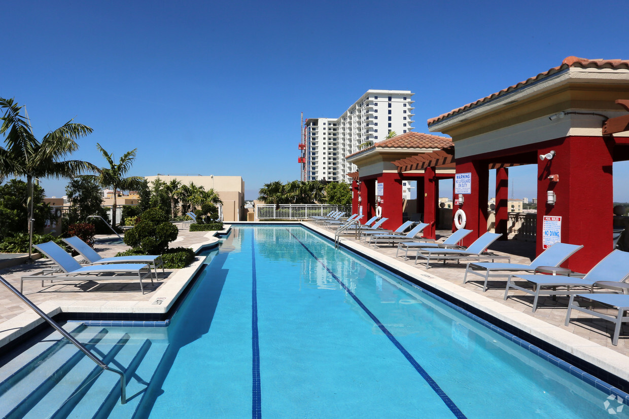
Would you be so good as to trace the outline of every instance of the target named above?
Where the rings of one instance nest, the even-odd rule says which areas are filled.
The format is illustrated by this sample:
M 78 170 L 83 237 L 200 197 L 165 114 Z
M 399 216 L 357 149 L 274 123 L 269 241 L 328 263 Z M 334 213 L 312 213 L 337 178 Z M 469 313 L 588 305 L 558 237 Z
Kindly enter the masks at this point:
M 221 231 L 209 231 L 205 237 L 207 241 L 192 246 L 194 253 L 201 249 L 218 246 L 220 234 L 228 233 L 231 224 L 225 224 Z M 174 307 L 179 296 L 186 290 L 198 271 L 203 267 L 204 258 L 199 256 L 186 268 L 179 269 L 172 278 L 161 285 L 148 301 L 131 302 L 118 300 L 54 300 L 45 302 L 38 307 L 49 317 L 73 313 L 126 313 L 126 314 L 154 314 L 165 315 Z M 16 317 L 9 318 L 0 326 L 0 347 L 13 342 L 23 335 L 43 325 L 45 320 L 37 313 L 28 310 Z

